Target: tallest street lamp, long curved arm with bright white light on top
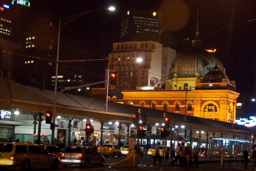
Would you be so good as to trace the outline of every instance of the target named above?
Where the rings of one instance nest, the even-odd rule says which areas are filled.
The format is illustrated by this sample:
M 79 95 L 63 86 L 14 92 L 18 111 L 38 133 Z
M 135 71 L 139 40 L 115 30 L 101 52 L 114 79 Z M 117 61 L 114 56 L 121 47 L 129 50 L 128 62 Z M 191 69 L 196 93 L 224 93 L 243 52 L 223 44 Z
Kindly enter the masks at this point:
M 59 67 L 59 51 L 60 51 L 60 29 L 65 26 L 66 24 L 68 24 L 70 21 L 72 21 L 73 19 L 76 19 L 84 14 L 90 13 L 90 12 L 94 12 L 94 11 L 99 11 L 99 10 L 110 10 L 113 11 L 115 10 L 114 7 L 109 7 L 108 9 L 106 8 L 99 8 L 99 9 L 95 9 L 95 10 L 91 10 L 91 11 L 87 11 L 87 12 L 83 12 L 83 13 L 79 13 L 76 15 L 72 15 L 66 18 L 62 18 L 62 19 L 70 19 L 68 20 L 65 24 L 63 24 L 61 26 L 61 20 L 59 19 L 59 30 L 58 30 L 58 44 L 57 44 L 57 58 L 56 58 L 56 69 L 55 69 L 55 82 L 54 82 L 54 99 L 53 99 L 53 113 L 52 113 L 52 125 L 53 125 L 53 129 L 52 129 L 52 141 L 51 144 L 54 144 L 54 129 L 55 129 L 55 117 L 56 117 L 56 99 L 57 99 L 57 83 L 58 83 L 58 67 Z

